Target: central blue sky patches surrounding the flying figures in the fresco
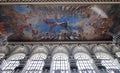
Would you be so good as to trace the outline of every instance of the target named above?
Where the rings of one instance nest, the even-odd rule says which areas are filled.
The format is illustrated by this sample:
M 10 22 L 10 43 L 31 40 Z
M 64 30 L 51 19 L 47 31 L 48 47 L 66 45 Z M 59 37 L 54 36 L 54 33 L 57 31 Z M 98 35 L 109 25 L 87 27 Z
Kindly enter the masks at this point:
M 50 22 L 56 22 L 55 18 L 49 19 L 47 18 L 48 21 Z M 66 16 L 66 17 L 61 17 L 58 19 L 59 23 L 63 22 L 68 22 L 68 26 L 71 28 L 71 30 L 77 30 L 77 22 L 78 22 L 78 16 Z M 50 28 L 49 24 L 46 24 L 44 22 L 39 23 L 36 28 L 40 30 L 40 33 L 44 32 L 49 32 L 48 29 Z M 60 32 L 61 30 L 65 30 L 62 28 L 60 25 L 56 25 L 52 30 L 51 33 L 57 33 Z

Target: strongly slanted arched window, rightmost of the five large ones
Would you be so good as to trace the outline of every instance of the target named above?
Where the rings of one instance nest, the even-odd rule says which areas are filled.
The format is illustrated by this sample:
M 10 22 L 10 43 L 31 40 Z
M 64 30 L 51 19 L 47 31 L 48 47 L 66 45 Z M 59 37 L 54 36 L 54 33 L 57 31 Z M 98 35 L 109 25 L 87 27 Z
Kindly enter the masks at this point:
M 114 59 L 107 53 L 97 52 L 95 53 L 97 59 L 101 61 L 108 73 L 120 73 L 118 66 L 114 63 Z

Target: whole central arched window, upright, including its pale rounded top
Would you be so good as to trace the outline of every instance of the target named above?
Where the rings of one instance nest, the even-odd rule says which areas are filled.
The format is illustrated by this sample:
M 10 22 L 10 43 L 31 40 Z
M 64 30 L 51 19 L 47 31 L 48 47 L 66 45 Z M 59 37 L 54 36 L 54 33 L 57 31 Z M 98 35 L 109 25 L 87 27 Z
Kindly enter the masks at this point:
M 52 58 L 51 73 L 70 73 L 68 56 L 64 53 L 56 53 Z

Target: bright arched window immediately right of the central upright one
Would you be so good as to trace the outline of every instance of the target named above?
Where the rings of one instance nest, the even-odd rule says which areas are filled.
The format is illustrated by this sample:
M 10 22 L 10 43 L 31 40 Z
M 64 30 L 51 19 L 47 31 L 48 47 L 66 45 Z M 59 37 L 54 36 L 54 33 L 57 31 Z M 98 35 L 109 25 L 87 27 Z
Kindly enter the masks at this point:
M 85 53 L 76 53 L 74 55 L 79 73 L 96 73 L 92 66 L 92 59 Z

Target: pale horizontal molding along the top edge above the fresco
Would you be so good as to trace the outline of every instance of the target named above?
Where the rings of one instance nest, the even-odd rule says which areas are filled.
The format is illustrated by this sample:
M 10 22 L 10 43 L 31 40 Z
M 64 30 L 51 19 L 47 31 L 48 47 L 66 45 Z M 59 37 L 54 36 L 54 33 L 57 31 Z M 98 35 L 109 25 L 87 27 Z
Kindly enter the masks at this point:
M 76 4 L 120 4 L 120 1 L 114 1 L 114 2 L 2 2 L 0 1 L 0 5 L 10 5 L 10 4 L 35 4 L 35 5 L 76 5 Z

